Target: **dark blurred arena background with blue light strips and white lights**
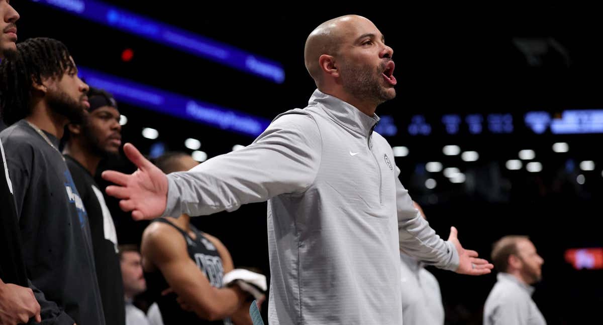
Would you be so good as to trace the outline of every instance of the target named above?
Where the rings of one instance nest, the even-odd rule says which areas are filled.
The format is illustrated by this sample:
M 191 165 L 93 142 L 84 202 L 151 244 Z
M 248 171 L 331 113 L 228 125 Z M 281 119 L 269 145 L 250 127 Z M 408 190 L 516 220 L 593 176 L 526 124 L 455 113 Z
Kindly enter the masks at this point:
M 548 324 L 601 323 L 599 8 L 11 4 L 21 14 L 20 41 L 61 40 L 81 77 L 115 95 L 124 142 L 150 157 L 184 151 L 199 161 L 250 144 L 277 114 L 306 106 L 315 85 L 303 47 L 315 26 L 349 13 L 371 19 L 394 49 L 399 81 L 397 98 L 377 108 L 376 131 L 394 147 L 400 180 L 431 226 L 442 237 L 456 226 L 463 246 L 488 259 L 498 238 L 528 235 L 545 260 L 533 297 Z M 134 168 L 123 157 L 101 164 Z M 108 203 L 120 243 L 139 244 L 148 223 Z M 266 209 L 254 203 L 192 221 L 223 241 L 235 266 L 269 276 Z M 446 324 L 481 324 L 494 273 L 429 270 L 440 282 Z

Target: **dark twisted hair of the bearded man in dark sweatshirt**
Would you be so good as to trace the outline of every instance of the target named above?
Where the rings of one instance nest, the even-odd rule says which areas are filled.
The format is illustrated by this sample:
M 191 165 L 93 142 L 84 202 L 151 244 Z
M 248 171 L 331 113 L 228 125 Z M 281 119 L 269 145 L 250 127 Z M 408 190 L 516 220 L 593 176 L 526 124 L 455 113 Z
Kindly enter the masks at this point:
M 14 58 L 0 63 L 0 109 L 7 125 L 31 114 L 33 83 L 45 78 L 62 78 L 65 72 L 76 73 L 65 44 L 38 37 L 17 43 Z

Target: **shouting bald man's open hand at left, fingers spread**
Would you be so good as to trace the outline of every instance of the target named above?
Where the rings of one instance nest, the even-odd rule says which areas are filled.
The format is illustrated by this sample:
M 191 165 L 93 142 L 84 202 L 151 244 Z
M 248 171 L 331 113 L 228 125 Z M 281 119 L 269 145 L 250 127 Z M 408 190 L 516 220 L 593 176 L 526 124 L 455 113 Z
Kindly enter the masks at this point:
M 124 144 L 124 153 L 138 170 L 131 175 L 115 170 L 103 172 L 103 179 L 117 184 L 108 186 L 107 194 L 121 199 L 119 207 L 124 211 L 132 211 L 134 220 L 159 217 L 168 202 L 167 176 L 131 143 Z

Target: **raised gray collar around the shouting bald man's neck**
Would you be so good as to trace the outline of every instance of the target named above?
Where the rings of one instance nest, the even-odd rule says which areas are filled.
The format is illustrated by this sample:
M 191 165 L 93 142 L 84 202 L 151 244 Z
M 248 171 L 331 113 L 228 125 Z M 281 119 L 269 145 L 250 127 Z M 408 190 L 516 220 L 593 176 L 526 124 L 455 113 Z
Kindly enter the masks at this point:
M 308 105 L 320 105 L 343 128 L 364 135 L 364 137 L 369 137 L 373 131 L 373 126 L 379 122 L 377 114 L 369 117 L 353 105 L 325 94 L 318 89 L 312 94 Z

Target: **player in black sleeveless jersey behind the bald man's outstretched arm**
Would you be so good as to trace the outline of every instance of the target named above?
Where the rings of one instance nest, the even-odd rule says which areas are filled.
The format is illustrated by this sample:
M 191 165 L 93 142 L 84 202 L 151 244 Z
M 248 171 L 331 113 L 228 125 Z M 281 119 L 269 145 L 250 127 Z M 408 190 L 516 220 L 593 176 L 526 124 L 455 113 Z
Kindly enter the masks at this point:
M 197 164 L 186 153 L 168 153 L 156 161 L 164 173 Z M 217 238 L 195 228 L 189 215 L 157 218 L 145 229 L 141 246 L 148 291 L 164 325 L 251 324 L 249 295 L 237 285 L 223 286 L 224 274 L 234 268 L 230 253 Z

